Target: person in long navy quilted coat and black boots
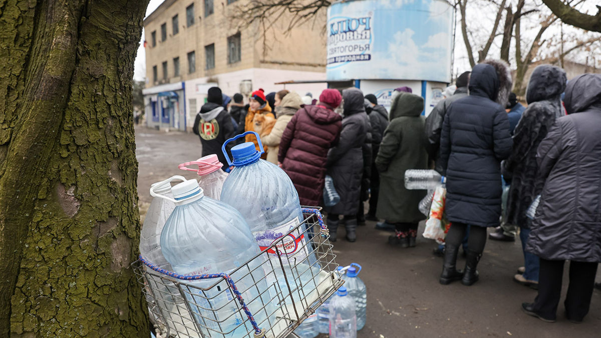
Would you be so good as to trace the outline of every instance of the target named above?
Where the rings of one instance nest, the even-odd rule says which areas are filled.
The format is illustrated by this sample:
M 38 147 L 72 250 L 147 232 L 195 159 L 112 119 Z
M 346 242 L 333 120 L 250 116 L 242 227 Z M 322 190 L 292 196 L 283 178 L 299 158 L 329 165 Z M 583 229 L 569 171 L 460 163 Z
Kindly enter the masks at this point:
M 445 239 L 441 284 L 459 279 L 465 285 L 474 284 L 486 227 L 499 226 L 501 161 L 510 155 L 512 145 L 504 108 L 510 88 L 506 63 L 477 64 L 469 79 L 469 96 L 451 103 L 442 124 L 440 162 L 447 176 L 445 212 L 451 229 Z M 465 271 L 460 272 L 457 253 L 468 225 Z

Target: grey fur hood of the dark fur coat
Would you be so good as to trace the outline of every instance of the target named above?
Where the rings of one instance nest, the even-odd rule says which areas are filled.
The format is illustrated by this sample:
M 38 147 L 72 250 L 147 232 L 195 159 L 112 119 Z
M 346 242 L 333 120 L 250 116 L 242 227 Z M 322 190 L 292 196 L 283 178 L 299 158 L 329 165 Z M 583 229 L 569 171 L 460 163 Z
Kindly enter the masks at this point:
M 542 64 L 534 69 L 526 88 L 526 102 L 559 100 L 566 90 L 566 72 L 560 67 Z

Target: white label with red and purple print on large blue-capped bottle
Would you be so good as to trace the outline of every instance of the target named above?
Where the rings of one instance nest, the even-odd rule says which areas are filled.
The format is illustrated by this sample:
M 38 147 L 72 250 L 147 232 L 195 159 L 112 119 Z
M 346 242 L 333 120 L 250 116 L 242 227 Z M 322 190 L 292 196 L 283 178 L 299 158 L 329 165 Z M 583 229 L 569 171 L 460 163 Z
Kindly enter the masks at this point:
M 252 235 L 257 239 L 261 251 L 267 250 L 269 258 L 278 262 L 278 265 L 278 252 L 282 257 L 294 257 L 294 260 L 298 263 L 302 262 L 309 254 L 307 251 L 305 235 L 301 232 L 300 228 L 289 234 L 288 232 L 299 224 L 301 224 L 301 220 L 299 220 L 298 217 L 295 217 L 293 220 L 288 221 L 275 229 L 253 232 Z M 276 245 L 272 247 L 272 244 L 274 243 Z M 289 264 L 287 259 L 282 259 L 282 262 L 284 264 Z M 292 261 L 290 260 L 290 262 Z

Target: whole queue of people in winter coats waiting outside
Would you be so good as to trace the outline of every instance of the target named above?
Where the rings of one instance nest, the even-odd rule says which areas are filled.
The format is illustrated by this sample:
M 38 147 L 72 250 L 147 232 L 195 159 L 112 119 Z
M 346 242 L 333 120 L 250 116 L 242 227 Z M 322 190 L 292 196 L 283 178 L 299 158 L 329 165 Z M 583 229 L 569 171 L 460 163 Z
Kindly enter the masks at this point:
M 601 75 L 567 81 L 563 69 L 538 66 L 526 89 L 527 106 L 511 87 L 508 64 L 485 60 L 458 76 L 428 118 L 424 99 L 408 87 L 394 91 L 389 113 L 373 94 L 347 88 L 326 89 L 319 100 L 260 89 L 246 106 L 235 94 L 229 114 L 221 90 L 213 87 L 194 132 L 203 156 L 221 155 L 221 144 L 235 134 L 257 132 L 263 158 L 288 174 L 303 205 L 323 206 L 325 177 L 331 176 L 340 195 L 325 207 L 332 242 L 340 238 L 340 225 L 346 240 L 355 242 L 356 227 L 367 219 L 393 232 L 389 244 L 415 247 L 418 224 L 426 218 L 418 204 L 426 191 L 406 189 L 404 173 L 436 170 L 446 177 L 444 217 L 450 223 L 445 244 L 435 249 L 444 257 L 439 282 L 476 283 L 487 236 L 514 241 L 519 233 L 523 266 L 513 278 L 538 290 L 522 310 L 556 320 L 564 262 L 570 260 L 564 305 L 567 318 L 581 322 L 601 262 Z M 258 149 L 254 136 L 246 141 Z M 463 269 L 457 266 L 460 247 Z

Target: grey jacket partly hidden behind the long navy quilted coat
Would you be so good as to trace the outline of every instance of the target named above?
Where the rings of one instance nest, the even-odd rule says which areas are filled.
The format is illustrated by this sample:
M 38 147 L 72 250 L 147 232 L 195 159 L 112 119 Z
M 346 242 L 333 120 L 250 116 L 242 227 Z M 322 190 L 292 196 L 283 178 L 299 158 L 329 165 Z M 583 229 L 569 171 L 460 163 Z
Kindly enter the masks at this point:
M 426 118 L 426 137 L 428 139 L 427 151 L 430 159 L 433 159 L 436 162 L 435 170 L 439 173 L 442 173 L 442 167 L 439 161 L 442 122 L 445 120 L 445 115 L 447 115 L 447 110 L 451 103 L 466 96 L 468 96 L 468 87 L 457 88 L 451 97 L 447 97 L 441 102 L 438 102 L 434 109 L 432 109 L 432 112 L 430 112 L 430 115 Z

